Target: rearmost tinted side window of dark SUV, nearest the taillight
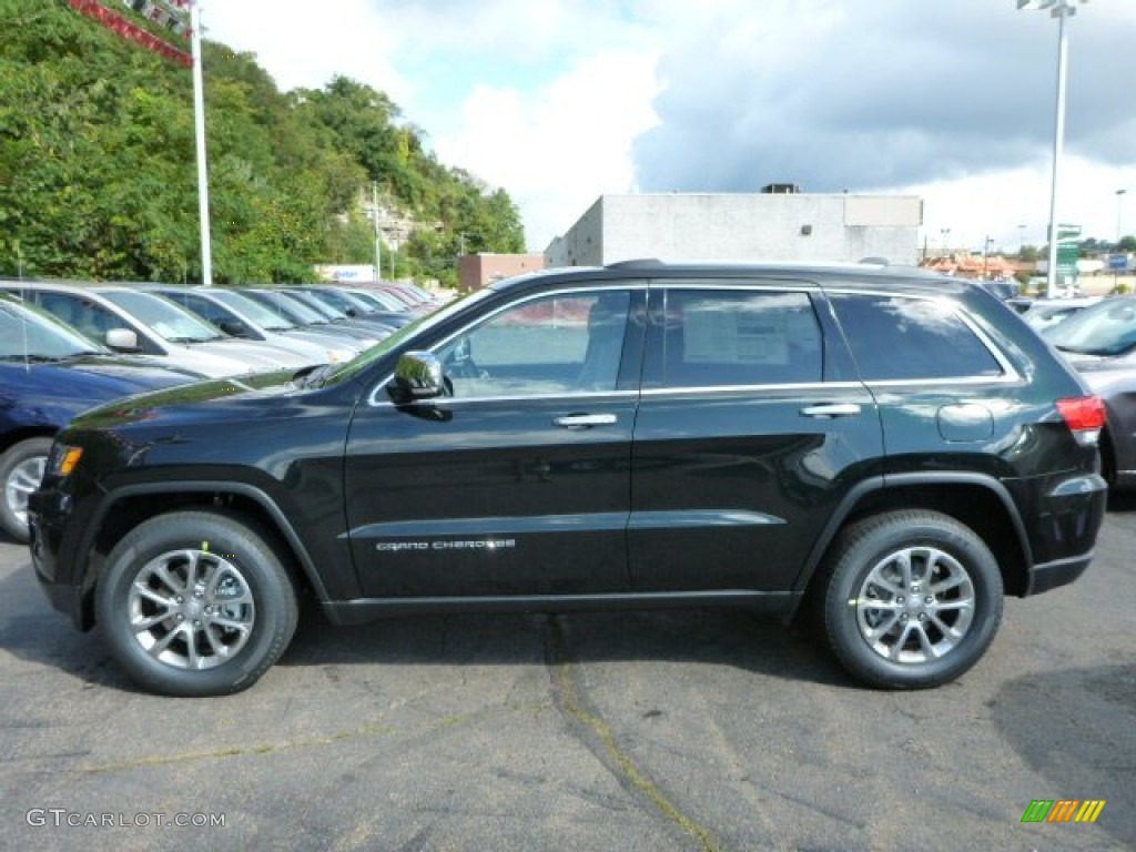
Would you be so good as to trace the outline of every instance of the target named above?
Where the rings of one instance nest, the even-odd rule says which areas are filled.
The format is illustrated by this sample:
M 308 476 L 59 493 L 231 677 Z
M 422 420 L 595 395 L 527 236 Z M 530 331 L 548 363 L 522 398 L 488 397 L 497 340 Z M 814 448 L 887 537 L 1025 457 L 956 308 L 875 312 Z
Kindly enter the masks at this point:
M 1003 375 L 950 304 L 893 295 L 829 298 L 866 382 Z

